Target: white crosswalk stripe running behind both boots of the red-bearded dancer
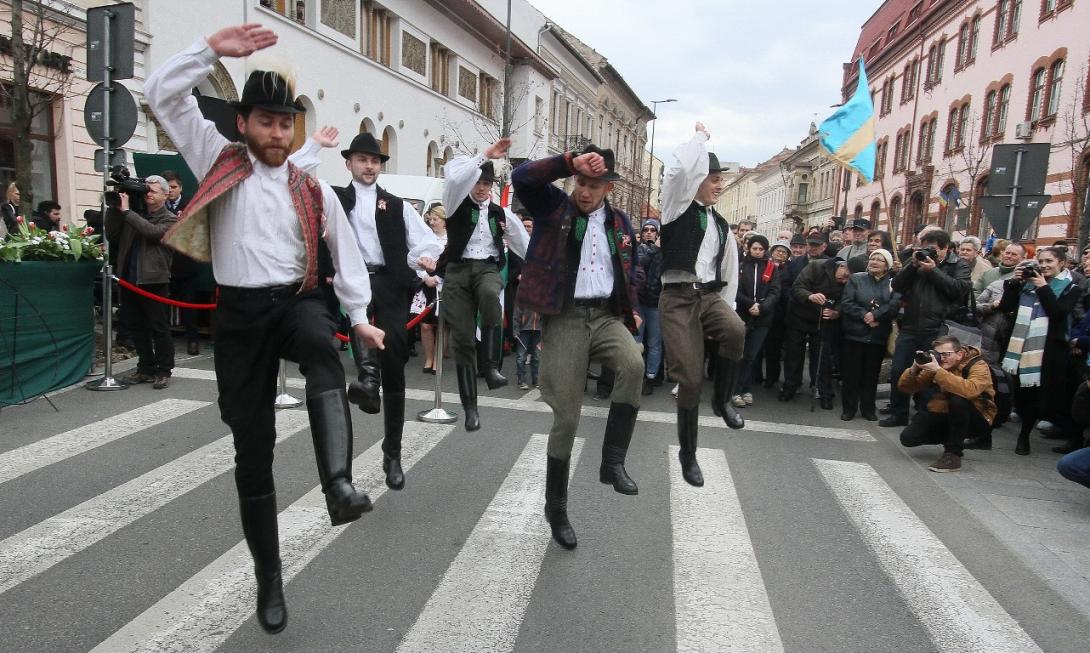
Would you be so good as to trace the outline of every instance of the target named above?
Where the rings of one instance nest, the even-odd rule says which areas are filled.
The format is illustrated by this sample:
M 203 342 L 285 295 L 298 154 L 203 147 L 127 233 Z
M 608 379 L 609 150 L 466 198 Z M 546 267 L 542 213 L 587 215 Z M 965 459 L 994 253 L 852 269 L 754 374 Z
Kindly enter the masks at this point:
M 402 467 L 408 472 L 452 426 L 405 423 Z M 380 471 L 382 443 L 358 456 L 353 482 L 372 500 L 386 494 Z M 366 520 L 367 517 L 361 518 Z M 280 512 L 280 559 L 289 582 L 334 542 L 346 528 L 331 528 L 320 487 Z M 351 528 L 351 527 L 349 527 Z M 146 609 L 94 649 L 122 651 L 215 651 L 254 612 L 253 560 L 245 542 L 238 543 L 173 592 Z

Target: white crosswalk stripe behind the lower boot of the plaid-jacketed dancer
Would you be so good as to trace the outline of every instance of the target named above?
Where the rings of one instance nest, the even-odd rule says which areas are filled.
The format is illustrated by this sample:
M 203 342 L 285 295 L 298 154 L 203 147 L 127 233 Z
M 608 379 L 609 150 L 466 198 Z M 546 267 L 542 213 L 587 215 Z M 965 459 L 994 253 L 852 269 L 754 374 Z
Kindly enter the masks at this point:
M 399 653 L 514 650 L 552 537 L 543 515 L 547 440 L 546 435 L 530 438 L 401 640 Z M 579 463 L 582 449 L 582 439 L 577 438 L 571 469 Z

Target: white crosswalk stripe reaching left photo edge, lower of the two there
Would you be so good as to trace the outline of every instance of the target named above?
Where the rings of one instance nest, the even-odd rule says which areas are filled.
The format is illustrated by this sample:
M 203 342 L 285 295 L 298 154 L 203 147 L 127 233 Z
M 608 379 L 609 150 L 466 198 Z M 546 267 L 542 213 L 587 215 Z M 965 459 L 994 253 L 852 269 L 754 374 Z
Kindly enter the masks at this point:
M 277 442 L 307 425 L 305 411 L 277 413 Z M 0 542 L 0 594 L 230 470 L 233 451 L 221 437 Z

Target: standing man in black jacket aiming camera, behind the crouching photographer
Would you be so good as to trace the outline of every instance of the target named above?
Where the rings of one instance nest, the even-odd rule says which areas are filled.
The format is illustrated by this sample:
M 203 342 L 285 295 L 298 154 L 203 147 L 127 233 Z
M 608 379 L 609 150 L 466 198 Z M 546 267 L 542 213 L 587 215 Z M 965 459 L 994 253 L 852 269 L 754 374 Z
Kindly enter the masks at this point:
M 905 313 L 891 364 L 889 416 L 879 425 L 907 426 L 908 395 L 898 389 L 897 379 L 912 364 L 917 351 L 931 347 L 946 317 L 966 304 L 972 285 L 969 266 L 950 247 L 949 234 L 936 228 L 920 232 L 920 246 L 892 286 L 901 295 Z M 922 409 L 925 399 L 917 398 L 917 407 Z

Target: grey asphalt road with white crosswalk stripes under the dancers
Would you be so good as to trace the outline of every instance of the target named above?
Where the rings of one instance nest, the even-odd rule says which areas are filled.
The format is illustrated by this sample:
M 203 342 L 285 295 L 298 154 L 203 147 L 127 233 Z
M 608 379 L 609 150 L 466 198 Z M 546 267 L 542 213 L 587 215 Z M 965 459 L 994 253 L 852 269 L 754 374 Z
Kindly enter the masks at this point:
M 410 415 L 434 383 L 419 367 Z M 356 412 L 375 510 L 338 529 L 305 412 L 278 413 L 290 617 L 267 636 L 210 370 L 0 411 L 0 651 L 1087 650 L 1082 614 L 919 463 L 937 448 L 764 390 L 744 431 L 702 409 L 702 489 L 680 480 L 668 388 L 645 398 L 635 497 L 597 481 L 607 404 L 588 392 L 565 551 L 542 518 L 550 415 L 513 383 L 482 384 L 476 433 L 409 424 L 401 492 L 380 416 Z

